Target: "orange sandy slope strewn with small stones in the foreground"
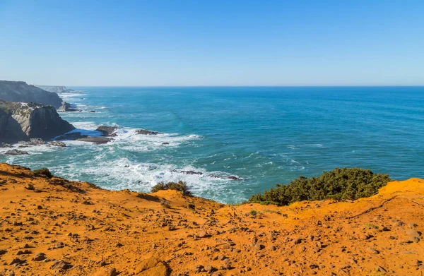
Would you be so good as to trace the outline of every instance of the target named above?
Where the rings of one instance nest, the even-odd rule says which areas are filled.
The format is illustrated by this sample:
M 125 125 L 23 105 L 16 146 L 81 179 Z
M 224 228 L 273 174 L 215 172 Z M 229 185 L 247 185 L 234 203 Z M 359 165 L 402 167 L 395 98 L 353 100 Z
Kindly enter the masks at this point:
M 0 164 L 0 275 L 424 274 L 422 179 L 279 208 L 49 181 Z

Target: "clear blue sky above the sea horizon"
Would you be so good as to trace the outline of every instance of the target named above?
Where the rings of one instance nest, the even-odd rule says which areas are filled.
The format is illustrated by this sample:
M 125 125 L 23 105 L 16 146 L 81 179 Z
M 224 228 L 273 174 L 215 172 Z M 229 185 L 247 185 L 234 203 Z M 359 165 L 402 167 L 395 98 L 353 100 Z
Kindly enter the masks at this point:
M 424 1 L 0 0 L 0 79 L 424 85 Z

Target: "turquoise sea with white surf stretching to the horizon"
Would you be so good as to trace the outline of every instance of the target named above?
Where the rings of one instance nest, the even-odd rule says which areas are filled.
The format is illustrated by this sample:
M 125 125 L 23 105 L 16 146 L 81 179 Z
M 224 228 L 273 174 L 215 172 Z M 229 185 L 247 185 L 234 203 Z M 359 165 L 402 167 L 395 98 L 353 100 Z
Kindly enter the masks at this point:
M 424 177 L 422 87 L 73 89 L 81 92 L 61 97 L 83 112 L 61 116 L 94 134 L 119 126 L 112 143 L 66 141 L 0 161 L 110 189 L 183 180 L 196 196 L 225 203 L 334 167 Z M 138 128 L 164 134 L 136 135 Z

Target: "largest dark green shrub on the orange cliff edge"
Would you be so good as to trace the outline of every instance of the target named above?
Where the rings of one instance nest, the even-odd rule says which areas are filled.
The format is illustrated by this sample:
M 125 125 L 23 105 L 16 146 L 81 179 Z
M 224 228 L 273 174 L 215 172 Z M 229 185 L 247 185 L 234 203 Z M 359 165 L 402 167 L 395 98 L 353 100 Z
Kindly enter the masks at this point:
M 320 176 L 300 176 L 287 185 L 277 184 L 276 188 L 252 196 L 249 202 L 289 205 L 296 201 L 326 198 L 355 200 L 374 195 L 389 181 L 392 181 L 389 174 L 374 174 L 369 169 L 336 168 Z

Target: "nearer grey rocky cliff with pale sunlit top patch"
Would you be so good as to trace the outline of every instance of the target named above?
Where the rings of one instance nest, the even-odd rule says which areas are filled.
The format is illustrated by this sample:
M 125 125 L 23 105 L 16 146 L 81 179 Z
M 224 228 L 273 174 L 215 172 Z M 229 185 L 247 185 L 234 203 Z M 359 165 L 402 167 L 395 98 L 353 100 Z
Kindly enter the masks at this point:
M 73 129 L 52 106 L 0 100 L 0 142 L 48 140 Z

